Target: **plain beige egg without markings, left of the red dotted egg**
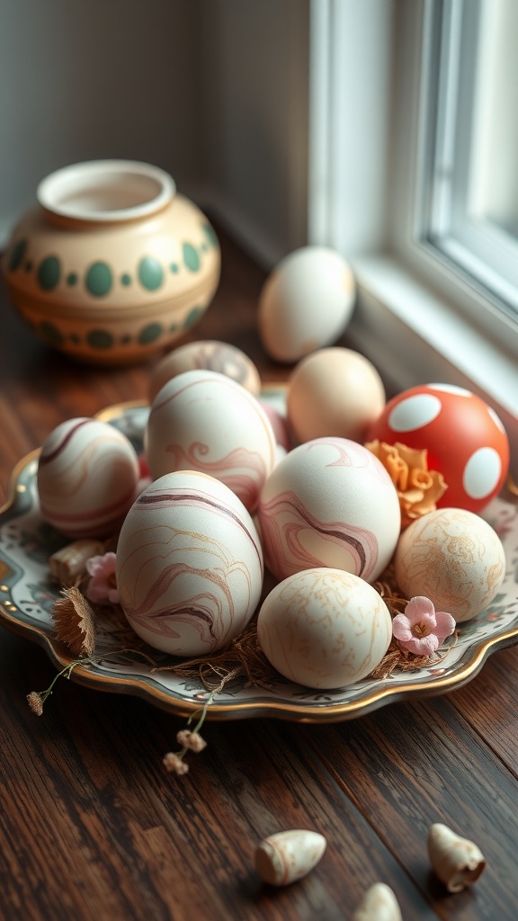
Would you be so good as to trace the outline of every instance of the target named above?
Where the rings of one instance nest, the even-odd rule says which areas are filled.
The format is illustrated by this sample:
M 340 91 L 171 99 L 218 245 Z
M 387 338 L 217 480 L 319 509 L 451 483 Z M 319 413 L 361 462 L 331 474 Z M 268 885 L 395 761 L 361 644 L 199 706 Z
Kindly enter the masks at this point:
M 384 406 L 378 371 L 351 349 L 320 349 L 288 380 L 288 422 L 300 442 L 336 436 L 363 443 Z

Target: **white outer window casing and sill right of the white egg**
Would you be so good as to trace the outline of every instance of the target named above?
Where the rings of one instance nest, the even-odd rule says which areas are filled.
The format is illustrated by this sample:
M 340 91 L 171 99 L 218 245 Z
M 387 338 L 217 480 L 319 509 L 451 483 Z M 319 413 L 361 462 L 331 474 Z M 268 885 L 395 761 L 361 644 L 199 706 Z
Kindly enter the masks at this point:
M 359 286 L 350 341 L 389 390 L 442 380 L 500 414 L 518 480 L 518 329 L 417 239 L 427 168 L 420 36 L 436 0 L 312 0 L 309 241 Z

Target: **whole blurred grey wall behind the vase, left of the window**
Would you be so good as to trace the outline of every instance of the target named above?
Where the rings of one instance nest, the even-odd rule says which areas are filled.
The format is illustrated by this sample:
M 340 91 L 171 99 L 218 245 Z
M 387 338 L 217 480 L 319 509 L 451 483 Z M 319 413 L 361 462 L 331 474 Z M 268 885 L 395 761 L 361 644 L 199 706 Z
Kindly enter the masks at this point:
M 142 159 L 265 262 L 305 241 L 309 0 L 0 0 L 0 245 L 53 169 Z

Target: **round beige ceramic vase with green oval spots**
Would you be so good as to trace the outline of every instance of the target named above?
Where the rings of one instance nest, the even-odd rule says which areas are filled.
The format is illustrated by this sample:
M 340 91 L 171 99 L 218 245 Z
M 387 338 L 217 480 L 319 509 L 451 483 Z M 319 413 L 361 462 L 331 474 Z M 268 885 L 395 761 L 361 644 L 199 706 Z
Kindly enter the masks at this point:
M 199 321 L 218 239 L 162 169 L 129 160 L 53 172 L 6 250 L 8 294 L 47 343 L 95 364 L 144 360 Z

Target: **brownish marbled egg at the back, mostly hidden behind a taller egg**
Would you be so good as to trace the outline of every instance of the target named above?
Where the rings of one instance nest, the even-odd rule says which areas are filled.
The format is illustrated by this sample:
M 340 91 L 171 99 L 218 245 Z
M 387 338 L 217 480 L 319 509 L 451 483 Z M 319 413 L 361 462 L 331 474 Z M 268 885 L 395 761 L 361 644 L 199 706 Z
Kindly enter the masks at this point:
M 153 402 L 164 384 L 177 374 L 204 368 L 237 381 L 254 396 L 261 391 L 259 371 L 251 358 L 236 345 L 206 339 L 180 345 L 159 361 L 149 380 L 149 402 Z

